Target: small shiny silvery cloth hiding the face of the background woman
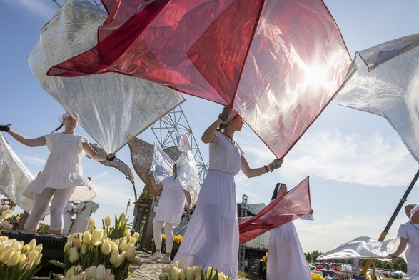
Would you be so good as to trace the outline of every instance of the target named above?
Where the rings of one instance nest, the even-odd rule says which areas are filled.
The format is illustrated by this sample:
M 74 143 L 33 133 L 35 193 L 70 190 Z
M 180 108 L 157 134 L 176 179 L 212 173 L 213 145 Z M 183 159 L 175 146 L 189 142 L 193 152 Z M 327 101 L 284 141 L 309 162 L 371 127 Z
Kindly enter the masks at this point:
M 191 196 L 191 205 L 193 206 L 198 199 L 201 186 L 198 180 L 198 171 L 196 162 L 191 151 L 191 144 L 186 134 L 176 135 L 178 141 L 178 150 L 180 156 L 176 159 L 178 179 L 183 189 L 188 191 Z M 153 162 L 150 171 L 153 171 L 156 181 L 159 183 L 167 176 L 173 175 L 173 164 L 171 158 L 156 144 L 154 145 Z

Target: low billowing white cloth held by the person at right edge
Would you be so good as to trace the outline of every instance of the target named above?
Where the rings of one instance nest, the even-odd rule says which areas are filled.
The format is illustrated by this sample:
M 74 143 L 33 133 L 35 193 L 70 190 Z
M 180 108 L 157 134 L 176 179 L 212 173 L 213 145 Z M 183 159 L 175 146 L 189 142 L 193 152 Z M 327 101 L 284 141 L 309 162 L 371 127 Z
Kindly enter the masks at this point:
M 384 259 L 399 243 L 397 237 L 380 242 L 368 236 L 360 236 L 339 244 L 317 259 Z

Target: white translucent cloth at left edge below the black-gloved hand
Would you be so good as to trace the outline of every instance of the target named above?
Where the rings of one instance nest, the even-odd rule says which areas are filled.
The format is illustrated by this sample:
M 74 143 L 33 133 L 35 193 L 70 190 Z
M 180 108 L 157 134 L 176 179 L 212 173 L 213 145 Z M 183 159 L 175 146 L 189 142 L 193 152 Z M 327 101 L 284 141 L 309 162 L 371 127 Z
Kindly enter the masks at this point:
M 34 176 L 14 154 L 11 147 L 0 133 L 0 189 L 25 211 L 31 211 L 34 201 L 22 193 L 34 181 Z

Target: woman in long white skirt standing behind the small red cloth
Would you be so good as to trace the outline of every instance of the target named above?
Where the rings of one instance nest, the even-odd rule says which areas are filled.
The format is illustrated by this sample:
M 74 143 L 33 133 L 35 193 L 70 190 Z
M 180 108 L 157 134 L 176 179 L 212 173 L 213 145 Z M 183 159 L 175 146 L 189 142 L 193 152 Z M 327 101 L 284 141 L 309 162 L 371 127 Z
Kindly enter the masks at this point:
M 273 191 L 272 200 L 283 196 L 287 191 L 286 184 L 277 184 Z M 303 219 L 303 216 L 301 219 Z M 311 280 L 306 256 L 292 221 L 271 229 L 268 241 L 266 279 Z

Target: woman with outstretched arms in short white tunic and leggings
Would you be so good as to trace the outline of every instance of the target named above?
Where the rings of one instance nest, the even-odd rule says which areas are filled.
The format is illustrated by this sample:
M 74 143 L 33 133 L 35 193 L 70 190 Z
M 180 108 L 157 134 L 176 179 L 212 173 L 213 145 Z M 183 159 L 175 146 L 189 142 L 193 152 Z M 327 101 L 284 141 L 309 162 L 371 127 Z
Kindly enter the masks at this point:
M 63 114 L 59 116 L 61 126 L 51 134 L 29 139 L 9 126 L 0 126 L 1 131 L 8 132 L 14 139 L 29 147 L 48 146 L 50 151 L 44 170 L 24 191 L 24 196 L 34 199 L 34 207 L 26 219 L 24 230 L 36 231 L 44 213 L 50 206 L 50 234 L 61 234 L 63 229 L 63 211 L 67 201 L 88 201 L 96 196 L 94 185 L 82 176 L 80 159 L 86 152 L 95 161 L 106 161 L 115 158 L 114 154 L 98 154 L 91 148 L 85 136 L 75 133 L 78 126 L 76 116 Z M 64 132 L 58 133 L 64 126 Z

